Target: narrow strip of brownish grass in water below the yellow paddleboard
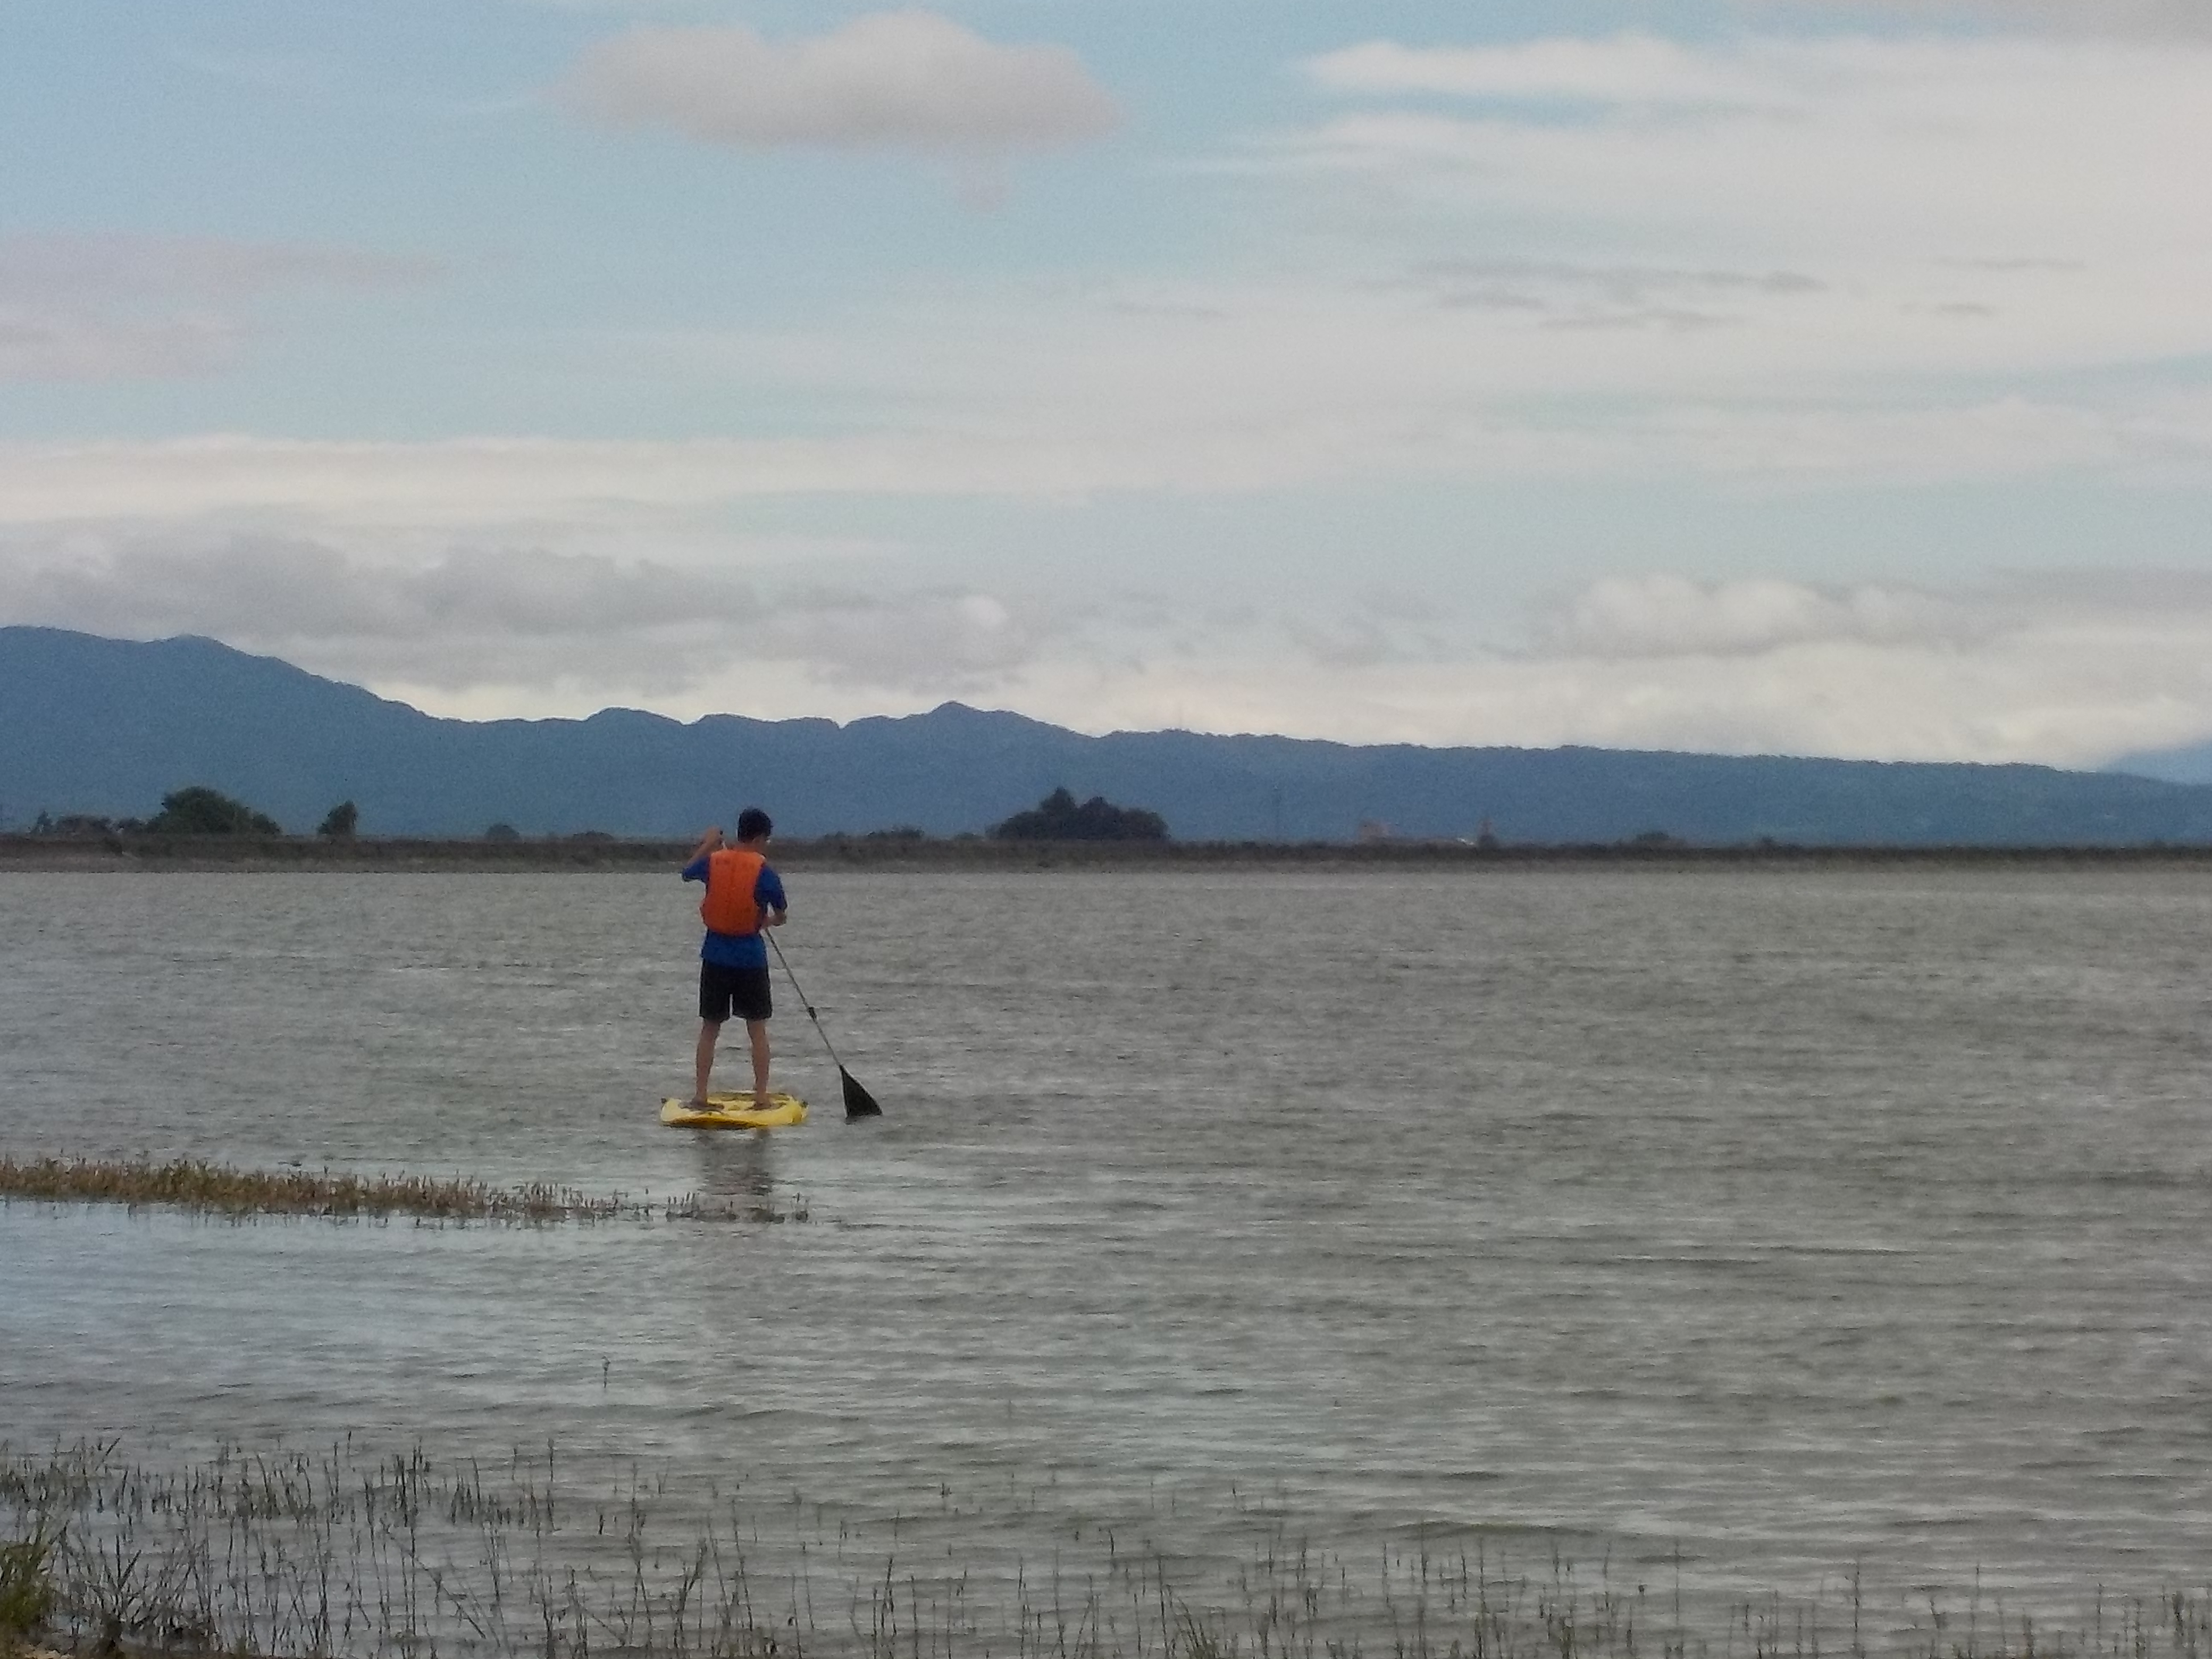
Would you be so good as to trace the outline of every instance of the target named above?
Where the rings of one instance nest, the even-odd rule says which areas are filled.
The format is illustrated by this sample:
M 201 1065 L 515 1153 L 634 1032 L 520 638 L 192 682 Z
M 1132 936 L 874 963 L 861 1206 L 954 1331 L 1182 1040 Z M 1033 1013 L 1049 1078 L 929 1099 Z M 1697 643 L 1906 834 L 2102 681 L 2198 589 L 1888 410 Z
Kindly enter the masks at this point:
M 805 1221 L 805 1201 L 633 1199 L 557 1186 L 495 1188 L 425 1175 L 341 1175 L 332 1170 L 241 1170 L 204 1159 L 0 1157 L 0 1201 L 159 1206 L 230 1219 L 336 1217 L 427 1221 Z

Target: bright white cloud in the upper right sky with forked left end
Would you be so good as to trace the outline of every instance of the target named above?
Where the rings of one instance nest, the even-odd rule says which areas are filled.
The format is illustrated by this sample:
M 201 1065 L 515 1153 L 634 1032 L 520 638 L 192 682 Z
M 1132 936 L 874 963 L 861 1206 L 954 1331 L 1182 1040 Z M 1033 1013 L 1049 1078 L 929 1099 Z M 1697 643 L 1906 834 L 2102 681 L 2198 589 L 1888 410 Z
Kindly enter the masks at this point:
M 1646 246 L 1694 232 L 1708 248 L 1858 270 L 2031 254 L 2101 272 L 2154 265 L 2174 279 L 2201 272 L 2212 252 L 2212 217 L 2181 164 L 2212 148 L 2212 49 L 2197 44 L 1371 42 L 1310 71 L 1363 97 L 1447 91 L 1478 104 L 1467 115 L 1407 106 L 1338 117 L 1294 146 L 1310 164 L 1535 223 L 1597 226 Z

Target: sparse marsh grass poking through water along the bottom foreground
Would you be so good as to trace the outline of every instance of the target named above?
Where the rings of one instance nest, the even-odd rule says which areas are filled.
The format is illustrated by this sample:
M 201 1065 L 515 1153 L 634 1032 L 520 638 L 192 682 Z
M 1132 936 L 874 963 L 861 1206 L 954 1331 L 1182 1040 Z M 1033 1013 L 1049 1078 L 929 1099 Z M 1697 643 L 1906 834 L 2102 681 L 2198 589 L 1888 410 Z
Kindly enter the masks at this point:
M 1113 1528 L 984 1517 L 931 1548 L 894 1520 L 672 1502 L 666 1478 L 571 1489 L 555 1447 L 493 1469 L 414 1449 L 223 1451 L 184 1469 L 113 1444 L 0 1447 L 0 1537 L 38 1562 L 44 1632 L 91 1652 L 522 1659 L 2208 1659 L 2205 1593 L 2099 1595 L 2073 1624 L 1953 1597 L 1686 1601 L 1666 1575 L 1551 1555 L 1533 1571 L 1416 1540 L 1354 1564 L 1281 1531 L 1241 1559 L 1175 1557 Z M 949 1489 L 947 1489 L 949 1491 Z M 666 1509 L 681 1509 L 670 1524 Z M 958 1515 L 958 1511 L 947 1509 Z M 940 1537 L 940 1544 L 945 1540 Z M 1646 1564 L 1648 1568 L 1652 1564 Z

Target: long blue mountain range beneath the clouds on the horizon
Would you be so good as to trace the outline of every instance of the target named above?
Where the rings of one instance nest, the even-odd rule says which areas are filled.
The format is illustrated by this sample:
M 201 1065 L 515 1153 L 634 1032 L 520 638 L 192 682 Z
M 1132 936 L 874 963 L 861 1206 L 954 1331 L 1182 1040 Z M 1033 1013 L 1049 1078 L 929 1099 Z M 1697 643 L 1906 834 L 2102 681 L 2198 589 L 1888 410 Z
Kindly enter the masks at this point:
M 2212 776 L 2212 772 L 2208 772 Z M 0 821 L 150 816 L 206 783 L 312 830 L 606 830 L 690 836 L 761 803 L 792 836 L 984 830 L 1068 787 L 1150 807 L 1181 841 L 1402 836 L 1606 843 L 2128 845 L 2212 841 L 2212 787 L 2042 765 L 1624 750 L 1345 745 L 1287 737 L 1084 737 L 945 703 L 902 719 L 453 721 L 212 639 L 0 628 Z

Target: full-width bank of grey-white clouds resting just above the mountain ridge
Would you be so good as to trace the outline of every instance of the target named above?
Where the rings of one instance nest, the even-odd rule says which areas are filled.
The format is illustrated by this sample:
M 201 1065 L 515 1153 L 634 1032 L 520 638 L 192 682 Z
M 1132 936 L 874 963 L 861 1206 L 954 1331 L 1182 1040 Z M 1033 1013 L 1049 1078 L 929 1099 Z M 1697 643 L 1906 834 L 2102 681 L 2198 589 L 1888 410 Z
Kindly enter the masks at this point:
M 80 529 L 0 538 L 0 615 L 204 633 L 469 717 L 624 703 L 849 719 L 962 697 L 1093 732 L 2062 765 L 2212 734 L 2212 577 L 2163 571 L 1615 575 L 1557 595 L 1524 648 L 1500 650 L 1389 604 L 1316 628 L 1287 602 L 1201 615 L 889 573 L 739 580 L 526 546 L 369 555 Z

